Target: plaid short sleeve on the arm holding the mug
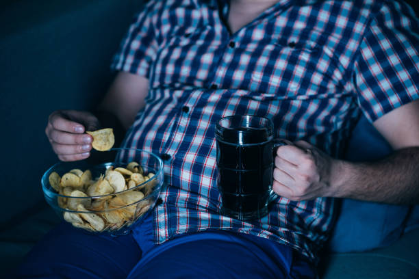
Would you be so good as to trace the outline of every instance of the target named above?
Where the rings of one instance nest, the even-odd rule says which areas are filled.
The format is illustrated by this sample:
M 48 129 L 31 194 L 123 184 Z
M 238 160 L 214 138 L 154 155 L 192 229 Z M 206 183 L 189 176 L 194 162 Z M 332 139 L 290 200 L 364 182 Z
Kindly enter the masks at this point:
M 380 5 L 355 62 L 355 90 L 370 122 L 419 98 L 418 18 L 402 1 Z

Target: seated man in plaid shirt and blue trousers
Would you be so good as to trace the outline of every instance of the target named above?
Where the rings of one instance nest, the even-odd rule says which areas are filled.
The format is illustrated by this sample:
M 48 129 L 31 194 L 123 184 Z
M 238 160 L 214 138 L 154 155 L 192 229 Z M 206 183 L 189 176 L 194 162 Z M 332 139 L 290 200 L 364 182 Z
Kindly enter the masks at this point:
M 327 197 L 418 200 L 417 29 L 396 1 L 150 1 L 115 56 L 119 72 L 99 109 L 128 129 L 123 146 L 162 155 L 162 203 L 132 237 L 55 229 L 21 274 L 314 278 L 333 223 Z M 254 222 L 219 213 L 215 122 L 233 114 L 271 118 L 277 137 L 294 141 L 275 157 L 281 198 Z M 392 157 L 339 159 L 361 114 L 397 150 Z M 107 125 L 55 111 L 46 133 L 62 161 L 75 161 L 90 155 L 84 132 Z

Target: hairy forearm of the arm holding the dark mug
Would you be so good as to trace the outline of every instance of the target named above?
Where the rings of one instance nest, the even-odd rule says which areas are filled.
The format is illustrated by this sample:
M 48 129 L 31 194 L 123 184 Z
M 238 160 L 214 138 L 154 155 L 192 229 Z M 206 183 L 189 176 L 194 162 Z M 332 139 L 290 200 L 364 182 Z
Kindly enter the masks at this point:
M 419 147 L 371 163 L 337 161 L 333 196 L 392 204 L 419 203 Z

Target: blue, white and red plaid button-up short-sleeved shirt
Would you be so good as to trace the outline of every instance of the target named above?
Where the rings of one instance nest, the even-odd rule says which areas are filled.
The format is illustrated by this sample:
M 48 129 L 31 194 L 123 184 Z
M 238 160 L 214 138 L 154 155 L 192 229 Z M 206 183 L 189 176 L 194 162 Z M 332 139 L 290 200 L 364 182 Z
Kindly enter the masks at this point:
M 280 0 L 231 34 L 228 12 L 228 1 L 149 1 L 114 57 L 114 70 L 150 82 L 124 145 L 165 155 L 155 241 L 231 230 L 316 261 L 333 199 L 279 198 L 254 222 L 220 215 L 215 123 L 265 116 L 277 137 L 341 157 L 361 114 L 374 121 L 418 98 L 418 21 L 398 1 Z

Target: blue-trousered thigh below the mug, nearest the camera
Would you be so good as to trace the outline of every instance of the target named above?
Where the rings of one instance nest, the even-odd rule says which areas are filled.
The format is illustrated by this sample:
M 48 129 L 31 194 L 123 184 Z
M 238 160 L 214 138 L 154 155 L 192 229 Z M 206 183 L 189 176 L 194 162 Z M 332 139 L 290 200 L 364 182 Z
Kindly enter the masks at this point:
M 225 231 L 184 235 L 156 245 L 129 274 L 138 278 L 316 278 L 292 248 Z

